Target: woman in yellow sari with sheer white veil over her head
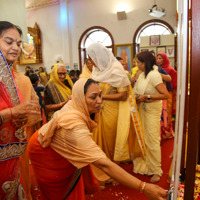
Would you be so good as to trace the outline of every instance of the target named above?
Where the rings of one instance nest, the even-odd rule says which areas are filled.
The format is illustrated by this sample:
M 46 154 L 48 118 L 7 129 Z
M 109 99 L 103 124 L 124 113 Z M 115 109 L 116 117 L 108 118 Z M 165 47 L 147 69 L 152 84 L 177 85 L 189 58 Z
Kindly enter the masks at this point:
M 129 161 L 131 153 L 144 157 L 144 135 L 137 105 L 122 65 L 100 43 L 90 45 L 87 53 L 94 65 L 92 78 L 100 83 L 103 99 L 95 142 L 114 161 Z M 96 170 L 95 176 L 99 181 L 108 179 Z

